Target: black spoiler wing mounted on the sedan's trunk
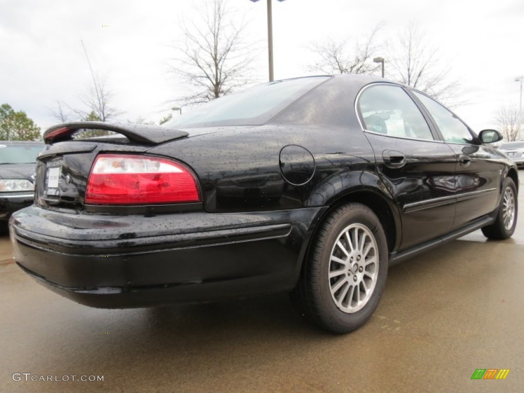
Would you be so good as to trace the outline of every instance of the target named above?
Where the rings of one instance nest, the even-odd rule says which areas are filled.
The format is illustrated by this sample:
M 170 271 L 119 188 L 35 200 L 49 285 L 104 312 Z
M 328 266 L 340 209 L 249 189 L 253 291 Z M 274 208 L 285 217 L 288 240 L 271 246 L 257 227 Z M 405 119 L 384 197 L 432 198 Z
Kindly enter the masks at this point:
M 52 126 L 43 133 L 46 144 L 72 140 L 72 136 L 80 129 L 103 129 L 122 134 L 132 142 L 158 145 L 168 140 L 183 138 L 189 134 L 179 129 L 170 129 L 162 126 L 130 123 L 102 123 L 102 122 L 75 122 Z

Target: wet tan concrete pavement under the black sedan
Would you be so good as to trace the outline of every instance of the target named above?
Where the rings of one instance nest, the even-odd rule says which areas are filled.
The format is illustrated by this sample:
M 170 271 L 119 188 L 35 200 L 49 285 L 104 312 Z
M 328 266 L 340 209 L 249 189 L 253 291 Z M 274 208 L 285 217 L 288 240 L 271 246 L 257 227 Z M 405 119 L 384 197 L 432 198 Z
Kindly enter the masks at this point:
M 523 234 L 521 214 L 513 239 L 472 234 L 392 267 L 372 319 L 343 336 L 304 323 L 285 295 L 99 310 L 0 263 L 0 391 L 520 392 Z M 7 237 L 0 250 L 9 260 Z M 489 368 L 510 371 L 471 379 Z

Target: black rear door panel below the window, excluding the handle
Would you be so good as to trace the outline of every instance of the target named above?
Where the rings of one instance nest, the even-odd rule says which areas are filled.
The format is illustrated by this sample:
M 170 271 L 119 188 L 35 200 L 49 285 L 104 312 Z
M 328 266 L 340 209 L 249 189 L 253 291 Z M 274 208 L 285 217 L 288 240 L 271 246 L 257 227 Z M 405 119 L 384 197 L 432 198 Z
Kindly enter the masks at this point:
M 366 133 L 375 150 L 377 171 L 401 214 L 399 250 L 449 232 L 455 216 L 455 157 L 438 141 L 395 138 Z M 405 164 L 388 167 L 385 154 L 396 151 Z

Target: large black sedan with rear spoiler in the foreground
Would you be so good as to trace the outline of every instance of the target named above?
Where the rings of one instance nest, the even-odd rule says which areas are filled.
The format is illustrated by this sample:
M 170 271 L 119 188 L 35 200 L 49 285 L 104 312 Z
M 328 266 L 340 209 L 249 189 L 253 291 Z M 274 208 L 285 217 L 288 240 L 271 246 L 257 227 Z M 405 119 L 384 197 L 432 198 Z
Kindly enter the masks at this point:
M 93 129 L 111 132 L 90 138 Z M 357 75 L 271 82 L 166 127 L 45 133 L 15 260 L 102 308 L 291 292 L 333 332 L 363 325 L 388 266 L 517 220 L 517 168 L 419 91 Z

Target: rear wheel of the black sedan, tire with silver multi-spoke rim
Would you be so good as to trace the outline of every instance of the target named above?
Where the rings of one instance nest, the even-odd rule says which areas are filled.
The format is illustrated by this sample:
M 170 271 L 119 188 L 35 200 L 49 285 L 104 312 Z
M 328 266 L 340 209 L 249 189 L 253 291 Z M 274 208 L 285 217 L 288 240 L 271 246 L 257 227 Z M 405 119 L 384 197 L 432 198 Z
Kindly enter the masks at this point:
M 348 203 L 321 224 L 291 297 L 321 328 L 351 332 L 377 308 L 387 270 L 386 236 L 377 216 L 363 204 Z

